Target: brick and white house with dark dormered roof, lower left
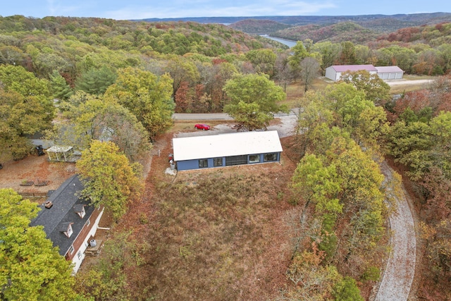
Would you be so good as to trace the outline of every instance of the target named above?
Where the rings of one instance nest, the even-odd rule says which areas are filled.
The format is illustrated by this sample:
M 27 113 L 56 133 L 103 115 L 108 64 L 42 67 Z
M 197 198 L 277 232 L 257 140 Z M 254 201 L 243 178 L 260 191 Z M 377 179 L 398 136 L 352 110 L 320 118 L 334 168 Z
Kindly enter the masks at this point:
M 90 240 L 97 232 L 103 207 L 89 205 L 87 199 L 78 197 L 83 185 L 77 175 L 70 177 L 51 193 L 30 226 L 44 226 L 47 238 L 59 247 L 59 254 L 73 263 L 75 274 Z

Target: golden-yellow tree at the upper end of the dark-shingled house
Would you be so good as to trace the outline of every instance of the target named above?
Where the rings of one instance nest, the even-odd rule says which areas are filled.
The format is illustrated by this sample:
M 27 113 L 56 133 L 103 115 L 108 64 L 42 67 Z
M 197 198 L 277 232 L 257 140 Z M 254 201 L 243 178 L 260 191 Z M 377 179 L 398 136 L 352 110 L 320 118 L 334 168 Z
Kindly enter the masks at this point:
M 82 195 L 111 210 L 116 220 L 127 211 L 128 202 L 140 197 L 142 167 L 130 164 L 113 142 L 94 140 L 76 165 L 85 185 Z

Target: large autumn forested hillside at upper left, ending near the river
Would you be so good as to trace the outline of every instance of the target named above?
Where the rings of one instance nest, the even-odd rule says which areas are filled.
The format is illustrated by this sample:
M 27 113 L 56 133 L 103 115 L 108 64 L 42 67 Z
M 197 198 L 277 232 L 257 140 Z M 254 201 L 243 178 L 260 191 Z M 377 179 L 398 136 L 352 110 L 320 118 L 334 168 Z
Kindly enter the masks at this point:
M 157 54 L 216 57 L 268 46 L 265 40 L 218 24 L 99 18 L 4 17 L 0 34 L 0 63 L 25 66 L 43 78 L 58 70 L 69 82 L 75 82 L 83 68 L 138 66 Z M 92 65 L 83 66 L 88 57 Z

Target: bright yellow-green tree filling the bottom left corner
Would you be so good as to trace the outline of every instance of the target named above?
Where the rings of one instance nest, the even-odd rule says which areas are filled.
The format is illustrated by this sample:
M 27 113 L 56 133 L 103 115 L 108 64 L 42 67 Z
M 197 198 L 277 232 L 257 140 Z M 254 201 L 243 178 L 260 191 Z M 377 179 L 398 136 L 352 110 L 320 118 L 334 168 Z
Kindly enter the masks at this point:
M 1 299 L 75 300 L 70 262 L 42 226 L 30 226 L 38 211 L 12 189 L 0 189 Z

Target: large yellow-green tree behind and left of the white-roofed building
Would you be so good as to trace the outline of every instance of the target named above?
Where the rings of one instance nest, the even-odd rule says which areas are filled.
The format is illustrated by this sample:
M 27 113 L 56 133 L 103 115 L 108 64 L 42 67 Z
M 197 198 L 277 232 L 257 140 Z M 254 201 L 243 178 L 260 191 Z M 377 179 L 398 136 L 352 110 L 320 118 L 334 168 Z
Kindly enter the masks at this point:
M 135 114 L 150 137 L 163 133 L 172 125 L 174 103 L 171 99 L 173 80 L 137 68 L 118 71 L 116 82 L 106 90 L 113 98 Z

